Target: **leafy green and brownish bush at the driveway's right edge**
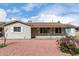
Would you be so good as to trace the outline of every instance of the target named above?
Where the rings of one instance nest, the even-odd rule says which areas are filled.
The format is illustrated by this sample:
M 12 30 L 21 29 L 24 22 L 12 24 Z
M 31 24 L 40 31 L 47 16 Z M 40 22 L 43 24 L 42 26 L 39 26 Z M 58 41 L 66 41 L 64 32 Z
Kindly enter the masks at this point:
M 79 54 L 79 48 L 75 45 L 75 37 L 66 36 L 66 38 L 62 38 L 58 42 L 59 48 L 63 53 L 70 53 L 71 55 Z

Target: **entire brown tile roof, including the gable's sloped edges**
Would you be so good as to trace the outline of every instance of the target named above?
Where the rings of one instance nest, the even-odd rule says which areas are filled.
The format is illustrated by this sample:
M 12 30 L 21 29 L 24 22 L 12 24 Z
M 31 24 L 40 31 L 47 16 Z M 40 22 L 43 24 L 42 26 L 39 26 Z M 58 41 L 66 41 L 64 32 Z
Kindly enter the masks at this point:
M 29 25 L 32 28 L 36 28 L 36 27 L 62 27 L 62 28 L 75 27 L 75 26 L 73 26 L 71 24 L 62 24 L 62 23 L 53 23 L 53 22 L 27 22 L 27 23 L 25 23 L 25 22 L 22 22 L 22 21 L 8 22 L 7 24 L 0 25 L 0 27 L 11 25 L 11 24 L 17 23 L 17 22 L 25 24 L 25 25 Z

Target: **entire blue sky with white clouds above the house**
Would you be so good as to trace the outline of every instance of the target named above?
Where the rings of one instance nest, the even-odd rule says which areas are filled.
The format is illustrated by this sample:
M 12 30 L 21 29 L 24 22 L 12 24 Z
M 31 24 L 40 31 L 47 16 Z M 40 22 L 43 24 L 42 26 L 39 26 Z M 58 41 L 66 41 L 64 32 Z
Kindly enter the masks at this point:
M 78 3 L 0 3 L 0 22 L 12 20 L 79 25 Z

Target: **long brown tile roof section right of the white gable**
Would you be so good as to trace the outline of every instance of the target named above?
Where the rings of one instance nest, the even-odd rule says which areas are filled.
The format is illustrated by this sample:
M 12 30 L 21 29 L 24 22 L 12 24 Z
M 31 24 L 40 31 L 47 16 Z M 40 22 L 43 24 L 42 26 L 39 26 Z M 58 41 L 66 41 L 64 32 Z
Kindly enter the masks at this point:
M 62 23 L 46 23 L 46 22 L 38 22 L 38 23 L 28 23 L 31 27 L 75 27 L 71 24 L 62 24 Z

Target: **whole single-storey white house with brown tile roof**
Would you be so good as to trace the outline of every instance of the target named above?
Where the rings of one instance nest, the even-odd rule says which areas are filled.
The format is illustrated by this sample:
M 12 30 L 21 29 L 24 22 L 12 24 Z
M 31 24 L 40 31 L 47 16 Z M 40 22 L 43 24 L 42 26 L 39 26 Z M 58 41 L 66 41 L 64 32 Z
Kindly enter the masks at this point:
M 62 38 L 75 36 L 75 26 L 60 22 L 21 22 L 12 21 L 0 26 L 0 32 L 7 39 Z

